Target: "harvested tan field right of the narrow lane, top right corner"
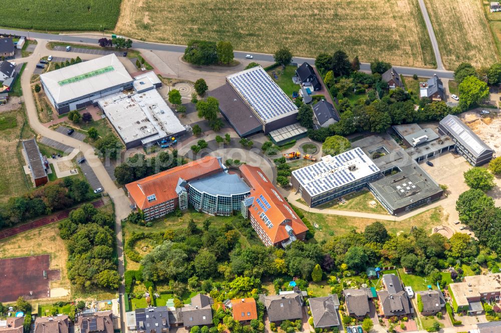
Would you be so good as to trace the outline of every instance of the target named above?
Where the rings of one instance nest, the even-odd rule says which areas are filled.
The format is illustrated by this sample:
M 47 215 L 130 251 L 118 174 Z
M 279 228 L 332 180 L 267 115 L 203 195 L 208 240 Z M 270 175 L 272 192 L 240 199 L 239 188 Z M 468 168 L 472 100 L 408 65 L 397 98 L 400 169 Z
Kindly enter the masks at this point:
M 482 2 L 479 0 L 425 0 L 442 61 L 453 70 L 461 62 L 489 66 L 498 54 Z

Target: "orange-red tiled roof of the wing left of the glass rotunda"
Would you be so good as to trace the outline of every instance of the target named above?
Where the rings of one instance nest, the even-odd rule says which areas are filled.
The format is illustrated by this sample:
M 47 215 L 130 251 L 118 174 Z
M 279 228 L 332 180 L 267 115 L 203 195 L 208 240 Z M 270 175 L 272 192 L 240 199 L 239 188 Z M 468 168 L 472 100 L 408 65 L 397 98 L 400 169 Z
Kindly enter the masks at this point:
M 125 187 L 136 205 L 140 209 L 144 209 L 176 198 L 176 186 L 179 178 L 190 181 L 222 170 L 217 157 L 206 156 L 130 182 Z M 155 194 L 156 200 L 148 202 L 147 197 L 152 194 Z

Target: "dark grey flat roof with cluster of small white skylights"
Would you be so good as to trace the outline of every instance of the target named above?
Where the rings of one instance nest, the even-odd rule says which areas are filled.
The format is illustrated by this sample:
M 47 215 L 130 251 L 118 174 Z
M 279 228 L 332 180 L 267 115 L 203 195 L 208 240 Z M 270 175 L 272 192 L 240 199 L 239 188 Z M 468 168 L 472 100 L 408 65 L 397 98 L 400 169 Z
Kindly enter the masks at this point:
M 393 210 L 442 192 L 440 186 L 416 162 L 412 161 L 400 169 L 398 173 L 370 182 L 372 189 Z

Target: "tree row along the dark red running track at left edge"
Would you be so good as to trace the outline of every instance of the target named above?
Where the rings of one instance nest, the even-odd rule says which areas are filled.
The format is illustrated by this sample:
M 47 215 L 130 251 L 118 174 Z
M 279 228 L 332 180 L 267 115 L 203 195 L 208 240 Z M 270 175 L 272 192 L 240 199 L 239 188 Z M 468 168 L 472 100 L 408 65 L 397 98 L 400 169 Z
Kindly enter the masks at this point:
M 86 180 L 66 177 L 0 204 L 0 229 L 94 197 Z

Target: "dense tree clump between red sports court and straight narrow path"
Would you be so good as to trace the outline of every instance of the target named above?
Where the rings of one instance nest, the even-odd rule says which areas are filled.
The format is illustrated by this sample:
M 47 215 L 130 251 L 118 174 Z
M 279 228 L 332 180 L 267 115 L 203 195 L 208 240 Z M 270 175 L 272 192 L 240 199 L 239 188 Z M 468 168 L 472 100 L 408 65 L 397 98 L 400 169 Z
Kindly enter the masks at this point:
M 60 236 L 69 252 L 68 278 L 81 290 L 92 287 L 118 288 L 120 275 L 113 256 L 113 216 L 83 204 L 70 212 L 60 225 Z

